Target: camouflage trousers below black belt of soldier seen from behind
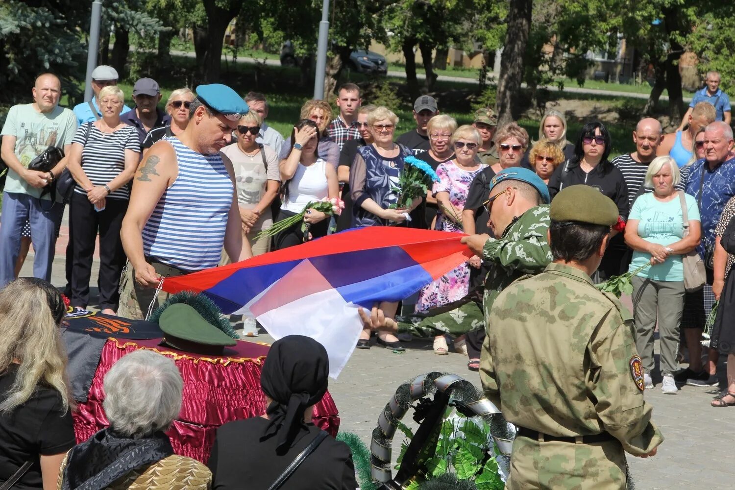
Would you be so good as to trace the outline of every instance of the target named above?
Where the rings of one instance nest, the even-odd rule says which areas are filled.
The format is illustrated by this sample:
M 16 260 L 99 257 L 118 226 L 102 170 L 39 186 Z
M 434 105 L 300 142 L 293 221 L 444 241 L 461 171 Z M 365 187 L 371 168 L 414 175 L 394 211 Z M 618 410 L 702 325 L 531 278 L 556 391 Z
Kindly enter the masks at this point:
M 593 444 L 539 442 L 518 436 L 513 441 L 506 490 L 625 490 L 628 477 L 620 442 Z

